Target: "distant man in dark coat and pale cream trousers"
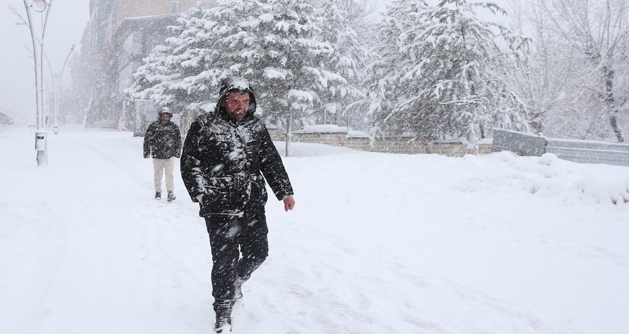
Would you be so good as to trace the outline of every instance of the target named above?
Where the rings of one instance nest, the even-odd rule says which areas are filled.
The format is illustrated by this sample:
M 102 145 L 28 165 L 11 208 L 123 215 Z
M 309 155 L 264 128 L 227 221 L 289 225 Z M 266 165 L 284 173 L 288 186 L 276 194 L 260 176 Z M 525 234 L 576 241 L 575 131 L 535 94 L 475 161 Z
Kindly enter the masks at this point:
M 166 174 L 168 201 L 175 199 L 173 171 L 175 158 L 181 157 L 181 132 L 179 126 L 171 122 L 172 114 L 168 109 L 160 113 L 160 120 L 151 123 L 144 135 L 144 157 L 153 156 L 153 183 L 155 199 L 162 198 L 162 174 Z

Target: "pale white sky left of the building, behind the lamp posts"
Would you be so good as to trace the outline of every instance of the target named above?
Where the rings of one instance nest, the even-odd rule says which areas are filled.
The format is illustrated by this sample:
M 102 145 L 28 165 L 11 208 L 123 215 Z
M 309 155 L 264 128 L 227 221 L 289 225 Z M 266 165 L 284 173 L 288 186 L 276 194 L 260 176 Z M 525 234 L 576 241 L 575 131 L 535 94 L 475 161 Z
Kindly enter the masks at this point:
M 31 0 L 26 0 L 31 3 Z M 35 72 L 30 51 L 30 31 L 25 25 L 15 25 L 21 20 L 7 8 L 13 5 L 26 20 L 26 9 L 21 0 L 4 0 L 0 8 L 0 111 L 10 114 L 27 113 L 35 116 Z M 40 14 L 31 11 L 36 28 L 40 30 Z M 81 35 L 89 21 L 89 0 L 53 0 L 44 38 L 44 52 L 48 55 L 53 72 L 60 72 L 72 44 L 78 53 Z M 41 35 L 40 33 L 38 35 Z M 24 47 L 26 45 L 28 50 Z M 45 75 L 50 81 L 50 70 L 45 64 Z M 64 77 L 69 78 L 69 65 Z M 67 85 L 67 80 L 65 82 Z

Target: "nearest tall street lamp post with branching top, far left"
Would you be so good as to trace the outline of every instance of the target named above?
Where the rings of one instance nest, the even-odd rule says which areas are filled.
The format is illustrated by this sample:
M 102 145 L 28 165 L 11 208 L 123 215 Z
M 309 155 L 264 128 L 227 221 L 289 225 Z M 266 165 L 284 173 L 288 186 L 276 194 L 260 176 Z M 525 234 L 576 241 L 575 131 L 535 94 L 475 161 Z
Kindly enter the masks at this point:
M 23 1 L 28 23 L 13 6 L 9 5 L 8 8 L 13 12 L 13 14 L 19 16 L 19 18 L 22 19 L 23 23 L 25 23 L 31 31 L 31 40 L 33 42 L 33 61 L 35 62 L 35 101 L 37 110 L 37 130 L 35 131 L 35 150 L 37 152 L 36 162 L 37 165 L 45 165 L 48 164 L 48 140 L 43 110 L 43 39 L 46 33 L 46 23 L 48 22 L 48 14 L 50 14 L 50 6 L 52 6 L 53 0 L 48 1 L 48 3 L 46 0 L 33 0 L 31 6 L 28 5 L 26 0 Z M 31 18 L 31 8 L 38 13 L 46 11 L 46 16 L 42 25 L 42 39 L 39 41 L 40 57 L 38 57 L 36 52 L 37 38 L 35 37 L 35 26 L 33 26 L 33 19 Z

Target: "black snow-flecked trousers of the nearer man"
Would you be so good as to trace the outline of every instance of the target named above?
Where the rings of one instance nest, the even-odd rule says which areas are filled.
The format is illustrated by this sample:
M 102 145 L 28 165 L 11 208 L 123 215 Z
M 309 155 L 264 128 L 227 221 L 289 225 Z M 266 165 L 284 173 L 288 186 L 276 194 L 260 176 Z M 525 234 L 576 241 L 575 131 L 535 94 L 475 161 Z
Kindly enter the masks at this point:
M 245 212 L 242 218 L 212 214 L 205 223 L 212 248 L 212 296 L 232 299 L 236 279 L 247 281 L 269 254 L 264 207 Z

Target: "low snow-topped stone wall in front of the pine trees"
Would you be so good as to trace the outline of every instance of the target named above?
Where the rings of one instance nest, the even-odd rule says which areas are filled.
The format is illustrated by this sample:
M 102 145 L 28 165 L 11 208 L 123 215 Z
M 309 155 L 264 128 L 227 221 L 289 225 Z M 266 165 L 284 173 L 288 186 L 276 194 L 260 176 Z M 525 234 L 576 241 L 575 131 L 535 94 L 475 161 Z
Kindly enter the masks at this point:
M 286 135 L 279 131 L 270 131 L 273 140 L 286 141 Z M 370 138 L 360 136 L 348 136 L 347 133 L 305 133 L 296 132 L 292 134 L 293 142 L 320 143 L 332 146 L 343 146 L 355 150 L 384 153 L 435 153 L 447 155 L 448 157 L 463 157 L 466 154 L 487 154 L 491 153 L 491 143 L 482 143 L 478 148 L 467 148 L 462 143 L 457 142 L 420 142 L 411 141 L 408 138 L 387 138 L 376 139 L 371 142 Z

